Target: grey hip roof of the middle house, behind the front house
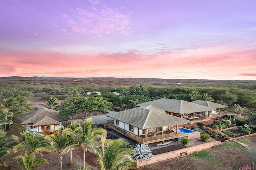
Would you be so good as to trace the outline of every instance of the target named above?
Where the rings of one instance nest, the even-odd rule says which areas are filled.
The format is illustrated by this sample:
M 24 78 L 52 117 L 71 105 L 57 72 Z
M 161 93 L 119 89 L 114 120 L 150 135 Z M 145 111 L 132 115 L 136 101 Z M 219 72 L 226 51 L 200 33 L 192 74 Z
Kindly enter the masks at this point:
M 194 104 L 192 102 L 186 102 L 184 100 L 165 99 L 165 98 L 153 100 L 150 102 L 145 102 L 142 104 L 137 104 L 136 106 L 148 106 L 150 104 L 160 109 L 163 109 L 165 111 L 172 112 L 172 113 L 179 113 L 179 114 L 215 110 L 214 108 L 202 106 L 199 104 Z

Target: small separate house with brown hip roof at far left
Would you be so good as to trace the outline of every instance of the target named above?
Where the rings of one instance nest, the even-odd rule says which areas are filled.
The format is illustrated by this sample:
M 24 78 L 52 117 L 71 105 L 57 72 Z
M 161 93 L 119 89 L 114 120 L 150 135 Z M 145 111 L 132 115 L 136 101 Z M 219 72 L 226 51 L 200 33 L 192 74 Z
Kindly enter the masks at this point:
M 27 133 L 35 132 L 39 133 L 41 131 L 53 131 L 53 129 L 58 129 L 63 127 L 61 122 L 64 121 L 58 115 L 58 111 L 40 108 L 33 111 L 29 111 L 24 114 L 24 118 L 21 120 L 22 125 L 27 126 Z

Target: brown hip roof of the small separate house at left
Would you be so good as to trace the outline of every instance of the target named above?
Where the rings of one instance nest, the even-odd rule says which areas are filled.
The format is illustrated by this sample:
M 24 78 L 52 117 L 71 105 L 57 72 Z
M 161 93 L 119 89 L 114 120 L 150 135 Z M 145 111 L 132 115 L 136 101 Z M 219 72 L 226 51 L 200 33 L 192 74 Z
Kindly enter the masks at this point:
M 24 114 L 24 118 L 21 120 L 22 125 L 33 124 L 33 126 L 46 126 L 46 125 L 58 125 L 62 118 L 58 115 L 58 111 L 40 108 L 37 110 L 29 111 Z

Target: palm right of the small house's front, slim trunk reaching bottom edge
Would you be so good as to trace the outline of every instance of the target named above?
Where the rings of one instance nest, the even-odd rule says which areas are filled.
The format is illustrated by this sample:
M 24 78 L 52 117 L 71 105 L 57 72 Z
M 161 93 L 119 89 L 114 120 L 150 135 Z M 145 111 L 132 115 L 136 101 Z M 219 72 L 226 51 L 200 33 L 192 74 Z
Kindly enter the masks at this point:
M 55 136 L 46 136 L 45 139 L 51 142 L 51 148 L 39 148 L 38 150 L 46 150 L 46 151 L 53 151 L 58 152 L 60 156 L 60 169 L 63 169 L 62 166 L 62 154 L 66 154 L 70 149 L 73 149 L 72 142 L 70 143 L 67 134 L 62 133 L 60 129 L 56 131 L 54 129 Z

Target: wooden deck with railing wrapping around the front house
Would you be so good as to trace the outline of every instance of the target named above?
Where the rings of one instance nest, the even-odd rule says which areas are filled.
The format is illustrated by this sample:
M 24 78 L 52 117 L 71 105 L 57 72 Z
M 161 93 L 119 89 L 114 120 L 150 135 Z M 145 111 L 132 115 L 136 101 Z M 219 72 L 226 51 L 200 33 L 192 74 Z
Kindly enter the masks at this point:
M 170 139 L 176 139 L 176 138 L 188 136 L 185 133 L 179 132 L 178 134 L 164 133 L 163 135 L 162 135 L 162 133 L 158 133 L 156 136 L 145 137 L 145 135 L 141 135 L 141 136 L 134 135 L 133 133 L 125 131 L 124 129 L 121 129 L 120 127 L 113 125 L 112 123 L 108 123 L 108 127 L 110 129 L 113 129 L 114 131 L 117 131 L 118 133 L 138 142 L 139 144 L 141 144 L 141 143 L 144 143 L 144 144 L 156 143 L 156 142 L 162 142 L 162 141 L 167 141 Z

